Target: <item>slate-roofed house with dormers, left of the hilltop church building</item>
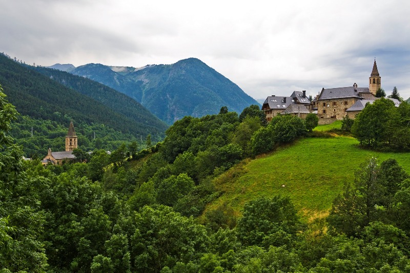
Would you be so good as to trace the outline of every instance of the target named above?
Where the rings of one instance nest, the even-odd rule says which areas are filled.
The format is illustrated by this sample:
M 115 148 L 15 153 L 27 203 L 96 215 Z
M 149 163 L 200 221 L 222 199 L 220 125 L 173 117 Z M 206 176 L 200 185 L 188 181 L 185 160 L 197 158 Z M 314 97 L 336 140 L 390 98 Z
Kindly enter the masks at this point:
M 306 91 L 295 91 L 290 97 L 272 95 L 267 97 L 262 104 L 262 110 L 267 121 L 271 121 L 278 114 L 296 114 L 300 116 L 300 114 L 307 114 L 306 111 L 310 113 L 310 109 L 312 109 L 312 104 L 306 97 Z

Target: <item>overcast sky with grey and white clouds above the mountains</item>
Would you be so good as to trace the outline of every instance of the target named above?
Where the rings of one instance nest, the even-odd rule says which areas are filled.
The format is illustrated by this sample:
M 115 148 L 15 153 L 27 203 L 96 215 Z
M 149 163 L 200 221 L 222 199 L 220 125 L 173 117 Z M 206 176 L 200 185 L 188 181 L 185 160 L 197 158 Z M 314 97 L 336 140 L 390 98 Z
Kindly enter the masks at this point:
M 410 97 L 410 1 L 0 0 L 0 52 L 143 67 L 195 57 L 255 99 L 368 87 Z

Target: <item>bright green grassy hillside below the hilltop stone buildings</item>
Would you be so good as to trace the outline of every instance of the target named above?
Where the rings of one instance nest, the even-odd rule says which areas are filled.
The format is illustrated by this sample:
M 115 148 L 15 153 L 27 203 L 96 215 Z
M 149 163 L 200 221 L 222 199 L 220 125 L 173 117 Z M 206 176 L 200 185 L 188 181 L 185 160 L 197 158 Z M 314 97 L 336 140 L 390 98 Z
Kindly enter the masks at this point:
M 410 173 L 408 153 L 381 153 L 359 148 L 351 137 L 304 138 L 269 155 L 248 160 L 214 180 L 223 194 L 207 208 L 226 203 L 237 214 L 246 201 L 260 196 L 290 196 L 305 218 L 327 214 L 345 181 L 366 158 L 395 158 Z M 284 186 L 283 186 L 284 185 Z

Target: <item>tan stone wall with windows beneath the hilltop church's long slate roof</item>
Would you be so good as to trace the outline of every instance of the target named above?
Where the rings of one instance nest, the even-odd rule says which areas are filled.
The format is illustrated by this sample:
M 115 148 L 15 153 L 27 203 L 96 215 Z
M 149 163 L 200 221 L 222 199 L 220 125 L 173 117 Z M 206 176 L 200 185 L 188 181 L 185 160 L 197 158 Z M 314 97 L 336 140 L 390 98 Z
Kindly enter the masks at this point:
M 318 102 L 317 115 L 321 119 L 342 119 L 346 115 L 346 110 L 350 108 L 359 98 L 334 98 L 320 99 Z M 323 123 L 329 124 L 329 123 Z

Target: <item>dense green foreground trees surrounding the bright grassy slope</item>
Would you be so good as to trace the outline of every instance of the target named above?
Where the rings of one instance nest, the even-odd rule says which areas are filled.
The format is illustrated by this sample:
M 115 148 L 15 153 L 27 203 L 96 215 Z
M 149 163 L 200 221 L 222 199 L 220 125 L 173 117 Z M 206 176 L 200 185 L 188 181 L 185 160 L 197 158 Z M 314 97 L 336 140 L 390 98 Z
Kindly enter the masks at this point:
M 395 159 L 361 162 L 316 222 L 281 195 L 251 200 L 240 215 L 205 211 L 221 194 L 213 178 L 241 160 L 331 137 L 312 131 L 316 115 L 267 123 L 258 106 L 222 107 L 176 121 L 154 145 L 121 143 L 111 155 L 95 147 L 89 158 L 78 149 L 84 162 L 46 167 L 22 159 L 16 118 L 0 92 L 1 272 L 410 271 L 410 176 Z M 356 121 L 343 128 L 360 132 Z

